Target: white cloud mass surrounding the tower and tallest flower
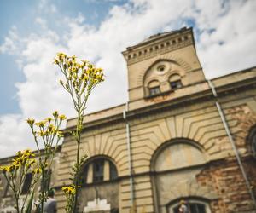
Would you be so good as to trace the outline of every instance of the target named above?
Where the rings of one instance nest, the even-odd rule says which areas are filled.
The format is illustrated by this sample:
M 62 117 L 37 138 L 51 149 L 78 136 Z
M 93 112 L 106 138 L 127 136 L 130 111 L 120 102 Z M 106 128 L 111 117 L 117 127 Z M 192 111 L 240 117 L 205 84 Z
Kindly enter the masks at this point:
M 41 3 L 44 6 L 46 1 Z M 56 52 L 78 55 L 105 69 L 106 82 L 90 97 L 91 112 L 127 100 L 127 71 L 121 51 L 156 32 L 176 30 L 186 20 L 195 21 L 195 32 L 200 32 L 197 52 L 208 78 L 255 66 L 255 9 L 255 1 L 134 0 L 114 6 L 98 28 L 83 24 L 83 14 L 68 22 L 67 17 L 62 17 L 67 32 L 61 35 L 48 28 L 47 20 L 38 17 L 44 34 L 20 39 L 24 49 L 18 61 L 26 77 L 25 82 L 17 83 L 22 113 L 0 118 L 0 141 L 7 141 L 12 147 L 26 147 L 29 144 L 24 143 L 24 138 L 29 132 L 21 124 L 24 118 L 44 118 L 56 109 L 67 116 L 74 115 L 68 95 L 57 83 L 60 72 L 51 64 Z M 19 47 L 15 45 L 17 40 L 10 34 L 6 39 L 8 42 L 0 49 L 13 53 Z M 4 144 L 0 150 L 0 156 L 11 152 Z

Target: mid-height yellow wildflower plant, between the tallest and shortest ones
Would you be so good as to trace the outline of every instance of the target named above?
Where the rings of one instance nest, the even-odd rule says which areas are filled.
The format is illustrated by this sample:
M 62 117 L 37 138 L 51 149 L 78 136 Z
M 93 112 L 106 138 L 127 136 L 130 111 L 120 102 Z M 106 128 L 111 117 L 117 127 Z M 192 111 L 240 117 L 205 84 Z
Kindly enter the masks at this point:
M 51 165 L 58 144 L 63 137 L 63 133 L 60 130 L 61 124 L 66 119 L 65 115 L 61 115 L 57 111 L 53 112 L 52 115 L 52 118 L 45 118 L 39 122 L 35 122 L 32 118 L 26 120 L 32 130 L 32 135 L 38 148 L 38 170 L 40 170 L 41 187 L 43 187 L 39 194 L 38 204 L 36 204 L 39 212 L 43 212 L 44 202 L 48 199 Z M 43 151 L 39 147 L 39 144 L 42 143 L 44 144 Z

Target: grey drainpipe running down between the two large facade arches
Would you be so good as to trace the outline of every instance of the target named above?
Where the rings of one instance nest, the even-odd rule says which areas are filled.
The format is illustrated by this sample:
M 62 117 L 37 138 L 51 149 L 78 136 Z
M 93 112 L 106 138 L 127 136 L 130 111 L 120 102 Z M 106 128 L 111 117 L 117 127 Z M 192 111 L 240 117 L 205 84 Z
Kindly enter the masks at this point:
M 133 190 L 133 176 L 132 176 L 132 165 L 131 165 L 131 140 L 130 140 L 130 125 L 126 119 L 126 112 L 129 111 L 129 103 L 126 102 L 125 110 L 123 112 L 123 118 L 125 120 L 126 127 L 126 144 L 128 152 L 128 166 L 129 166 L 129 176 L 130 176 L 130 191 L 131 191 L 131 208 L 133 209 L 134 205 L 134 190 Z

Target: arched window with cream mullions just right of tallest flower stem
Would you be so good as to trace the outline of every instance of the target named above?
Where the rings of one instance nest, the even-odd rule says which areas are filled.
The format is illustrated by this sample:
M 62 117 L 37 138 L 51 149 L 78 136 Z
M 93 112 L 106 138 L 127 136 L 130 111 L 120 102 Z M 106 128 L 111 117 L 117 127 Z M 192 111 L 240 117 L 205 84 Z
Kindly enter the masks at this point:
M 118 172 L 112 161 L 106 158 L 95 158 L 84 166 L 81 173 L 82 184 L 101 181 L 113 181 L 118 178 Z

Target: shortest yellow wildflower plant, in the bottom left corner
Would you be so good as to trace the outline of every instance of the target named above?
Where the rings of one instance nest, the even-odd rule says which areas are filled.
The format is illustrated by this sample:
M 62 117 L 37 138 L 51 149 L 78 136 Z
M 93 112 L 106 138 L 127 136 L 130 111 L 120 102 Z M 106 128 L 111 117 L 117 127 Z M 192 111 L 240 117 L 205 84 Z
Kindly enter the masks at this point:
M 18 213 L 28 213 L 32 210 L 34 189 L 41 174 L 41 170 L 39 168 L 34 168 L 34 165 L 36 164 L 34 157 L 35 154 L 29 149 L 23 152 L 19 151 L 16 153 L 15 158 L 12 159 L 12 164 L 0 166 L 0 170 L 3 172 L 3 176 L 5 177 L 8 186 L 14 193 L 15 210 Z M 32 173 L 32 183 L 28 188 L 28 193 L 26 193 L 25 198 L 22 199 L 20 204 L 19 201 L 22 193 L 22 186 L 24 185 L 26 176 L 29 173 Z

